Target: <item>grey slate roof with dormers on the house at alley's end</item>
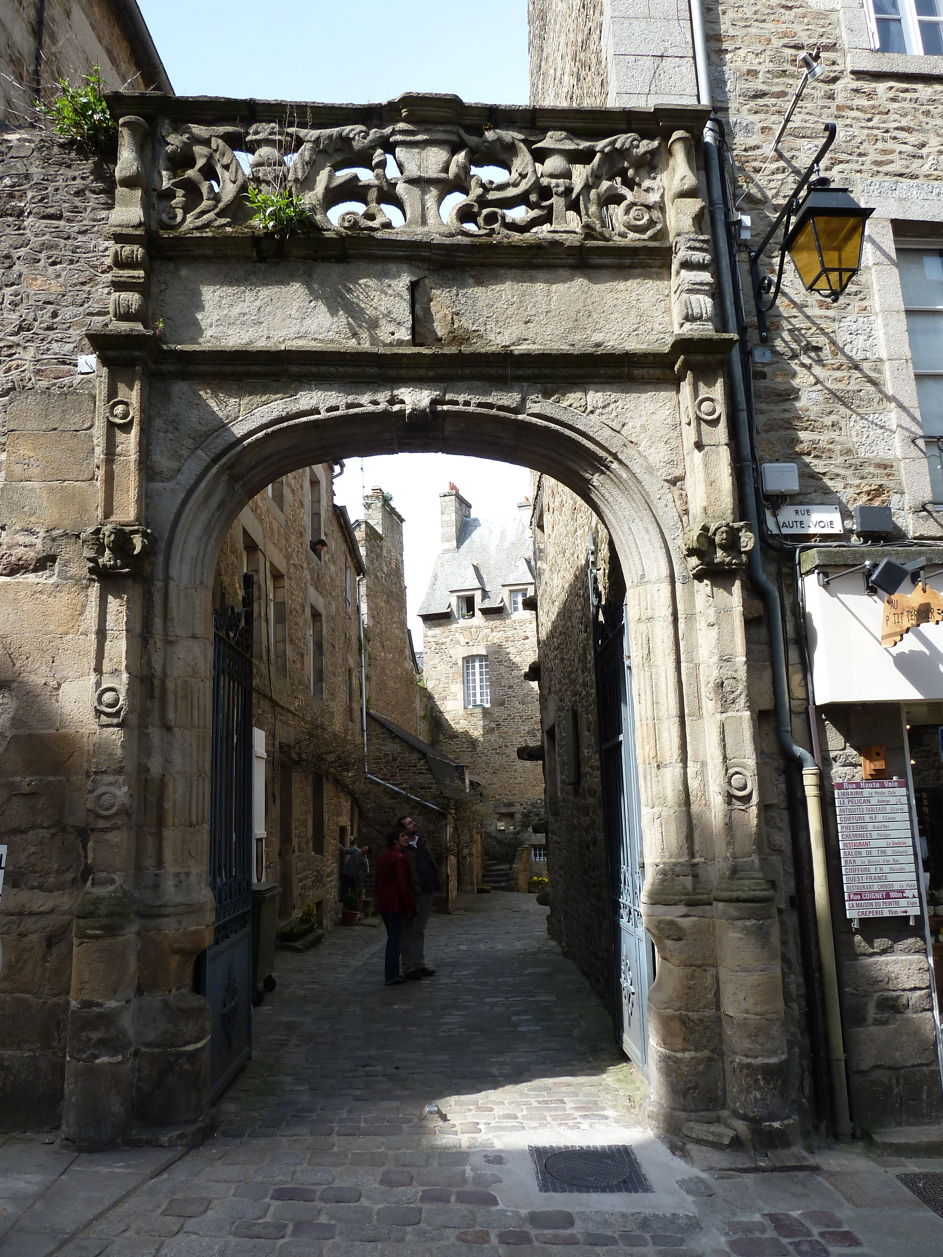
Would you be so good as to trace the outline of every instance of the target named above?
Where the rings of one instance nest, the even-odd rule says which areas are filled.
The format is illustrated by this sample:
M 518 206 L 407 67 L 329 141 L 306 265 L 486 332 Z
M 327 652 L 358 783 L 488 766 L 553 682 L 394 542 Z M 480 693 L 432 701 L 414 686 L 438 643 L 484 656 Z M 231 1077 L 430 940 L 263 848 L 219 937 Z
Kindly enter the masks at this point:
M 531 529 L 523 513 L 500 519 L 474 515 L 463 519 L 458 548 L 441 551 L 433 564 L 419 615 L 448 613 L 454 591 L 475 587 L 484 591 L 483 607 L 498 607 L 502 586 L 533 585 L 531 548 Z

